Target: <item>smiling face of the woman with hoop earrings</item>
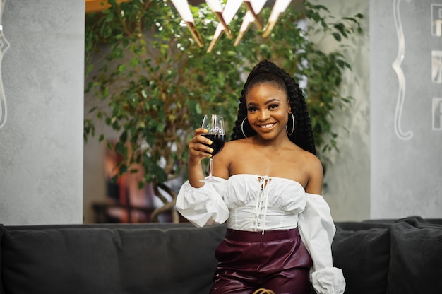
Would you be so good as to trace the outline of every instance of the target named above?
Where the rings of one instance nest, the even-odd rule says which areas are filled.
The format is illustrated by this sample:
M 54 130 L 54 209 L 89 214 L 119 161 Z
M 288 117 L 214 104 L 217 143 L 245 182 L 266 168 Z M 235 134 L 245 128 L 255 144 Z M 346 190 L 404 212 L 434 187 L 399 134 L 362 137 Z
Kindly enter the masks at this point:
M 247 119 L 258 136 L 265 140 L 287 136 L 285 126 L 290 112 L 286 93 L 272 83 L 261 83 L 246 95 Z

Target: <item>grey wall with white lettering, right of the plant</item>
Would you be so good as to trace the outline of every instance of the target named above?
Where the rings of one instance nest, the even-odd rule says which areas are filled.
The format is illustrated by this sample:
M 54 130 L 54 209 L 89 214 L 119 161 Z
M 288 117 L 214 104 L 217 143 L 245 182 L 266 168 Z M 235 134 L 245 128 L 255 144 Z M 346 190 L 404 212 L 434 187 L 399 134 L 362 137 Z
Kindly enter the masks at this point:
M 441 218 L 442 1 L 371 0 L 370 16 L 370 217 Z

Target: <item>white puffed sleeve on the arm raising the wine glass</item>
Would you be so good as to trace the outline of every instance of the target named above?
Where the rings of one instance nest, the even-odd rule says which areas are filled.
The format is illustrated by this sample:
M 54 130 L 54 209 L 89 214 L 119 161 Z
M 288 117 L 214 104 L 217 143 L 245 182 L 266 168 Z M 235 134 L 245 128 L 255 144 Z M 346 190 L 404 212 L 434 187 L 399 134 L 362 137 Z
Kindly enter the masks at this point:
M 220 182 L 205 183 L 201 188 L 194 188 L 186 181 L 179 189 L 177 211 L 196 227 L 224 223 L 229 217 L 229 209 L 221 196 L 227 180 L 215 179 Z

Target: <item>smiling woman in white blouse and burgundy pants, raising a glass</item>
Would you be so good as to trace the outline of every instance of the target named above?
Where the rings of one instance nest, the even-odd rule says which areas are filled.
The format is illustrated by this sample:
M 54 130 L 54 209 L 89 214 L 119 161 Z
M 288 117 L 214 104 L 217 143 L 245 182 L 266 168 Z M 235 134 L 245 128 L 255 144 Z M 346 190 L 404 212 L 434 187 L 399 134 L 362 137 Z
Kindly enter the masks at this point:
M 304 96 L 294 79 L 270 61 L 257 64 L 241 92 L 232 140 L 214 157 L 204 178 L 201 160 L 210 140 L 196 129 L 189 142 L 189 180 L 177 209 L 193 225 L 227 222 L 212 294 L 343 293 L 333 267 L 335 226 L 321 196 L 323 170 L 316 157 Z

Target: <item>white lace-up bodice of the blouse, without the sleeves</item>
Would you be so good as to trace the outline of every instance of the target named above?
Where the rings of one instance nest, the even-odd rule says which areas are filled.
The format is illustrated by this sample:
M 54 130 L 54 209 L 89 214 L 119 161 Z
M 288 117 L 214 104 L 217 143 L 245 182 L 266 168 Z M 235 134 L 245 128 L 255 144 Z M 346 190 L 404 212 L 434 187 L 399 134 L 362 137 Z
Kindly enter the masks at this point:
M 233 175 L 223 196 L 230 210 L 228 228 L 263 233 L 296 228 L 306 204 L 301 184 L 281 177 Z

